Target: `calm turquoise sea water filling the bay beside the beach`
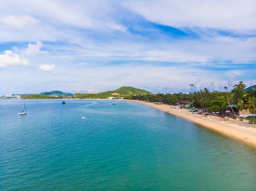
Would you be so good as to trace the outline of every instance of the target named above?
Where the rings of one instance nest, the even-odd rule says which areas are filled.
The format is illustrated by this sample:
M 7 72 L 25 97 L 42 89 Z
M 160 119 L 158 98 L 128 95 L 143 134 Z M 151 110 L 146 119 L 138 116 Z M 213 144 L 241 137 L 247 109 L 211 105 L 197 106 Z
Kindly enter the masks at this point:
M 1 191 L 256 190 L 250 146 L 139 103 L 61 103 L 0 100 Z

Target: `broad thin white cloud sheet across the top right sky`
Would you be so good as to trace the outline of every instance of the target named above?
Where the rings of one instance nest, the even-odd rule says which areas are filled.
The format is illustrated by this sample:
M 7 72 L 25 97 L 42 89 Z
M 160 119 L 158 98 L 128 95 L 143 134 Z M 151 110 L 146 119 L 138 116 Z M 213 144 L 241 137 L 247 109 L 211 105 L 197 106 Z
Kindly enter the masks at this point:
M 256 29 L 255 0 L 128 0 L 123 5 L 146 20 L 177 28 Z

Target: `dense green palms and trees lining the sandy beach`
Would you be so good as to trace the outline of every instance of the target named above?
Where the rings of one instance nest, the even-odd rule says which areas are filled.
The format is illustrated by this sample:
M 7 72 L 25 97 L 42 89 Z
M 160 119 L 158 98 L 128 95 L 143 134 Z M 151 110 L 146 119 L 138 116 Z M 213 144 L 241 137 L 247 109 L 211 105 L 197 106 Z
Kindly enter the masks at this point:
M 191 88 L 193 84 L 190 85 Z M 246 91 L 245 84 L 241 81 L 239 84 L 233 86 L 231 92 L 226 92 L 227 87 L 224 87 L 225 92 L 212 91 L 208 88 L 201 89 L 198 92 L 183 94 L 147 94 L 131 96 L 133 100 L 148 100 L 151 102 L 164 102 L 170 105 L 176 105 L 178 100 L 189 100 L 189 106 L 195 108 L 208 108 L 208 111 L 220 111 L 227 105 L 237 105 L 236 108 L 242 111 L 246 108 L 251 114 L 256 113 L 256 89 L 250 88 Z M 232 111 L 233 108 L 231 107 Z M 233 111 L 234 112 L 234 111 Z

